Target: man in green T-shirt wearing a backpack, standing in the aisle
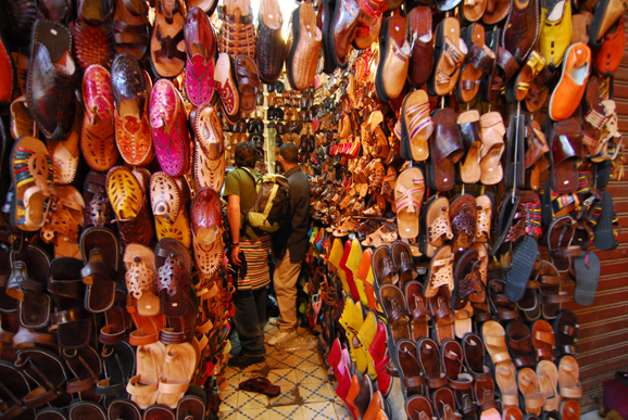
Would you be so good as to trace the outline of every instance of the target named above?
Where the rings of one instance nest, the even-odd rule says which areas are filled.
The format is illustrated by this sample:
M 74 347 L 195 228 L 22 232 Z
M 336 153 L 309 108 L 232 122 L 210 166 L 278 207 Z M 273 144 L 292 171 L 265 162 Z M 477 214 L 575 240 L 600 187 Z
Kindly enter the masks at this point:
M 238 166 L 227 174 L 223 198 L 227 200 L 227 219 L 231 230 L 231 262 L 240 265 L 240 252 L 247 260 L 247 276 L 238 279 L 234 294 L 236 314 L 234 321 L 242 345 L 242 351 L 229 359 L 233 367 L 246 367 L 265 360 L 264 324 L 266 323 L 266 285 L 271 282 L 268 252 L 271 236 L 258 237 L 242 220 L 255 204 L 258 192 L 253 177 L 260 175 L 254 169 L 256 149 L 252 142 L 236 145 L 235 161 Z M 246 168 L 246 169 L 244 169 Z M 249 173 L 250 171 L 250 173 Z

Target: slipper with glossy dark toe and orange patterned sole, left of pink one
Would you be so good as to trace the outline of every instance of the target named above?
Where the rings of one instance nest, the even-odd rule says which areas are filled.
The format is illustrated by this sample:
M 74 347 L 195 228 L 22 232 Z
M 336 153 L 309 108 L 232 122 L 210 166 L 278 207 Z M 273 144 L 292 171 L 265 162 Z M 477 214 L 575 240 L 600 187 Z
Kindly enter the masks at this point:
M 150 78 L 128 54 L 116 55 L 111 73 L 117 149 L 128 165 L 148 165 L 154 157 L 148 124 Z

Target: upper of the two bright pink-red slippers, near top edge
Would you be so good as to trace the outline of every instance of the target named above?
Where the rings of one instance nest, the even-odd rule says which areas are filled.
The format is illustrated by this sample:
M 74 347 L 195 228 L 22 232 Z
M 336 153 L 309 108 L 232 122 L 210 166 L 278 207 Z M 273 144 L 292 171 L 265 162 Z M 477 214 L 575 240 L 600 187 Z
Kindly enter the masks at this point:
M 186 38 L 186 92 L 194 106 L 209 103 L 214 96 L 214 53 L 216 35 L 201 9 L 190 8 L 184 27 Z

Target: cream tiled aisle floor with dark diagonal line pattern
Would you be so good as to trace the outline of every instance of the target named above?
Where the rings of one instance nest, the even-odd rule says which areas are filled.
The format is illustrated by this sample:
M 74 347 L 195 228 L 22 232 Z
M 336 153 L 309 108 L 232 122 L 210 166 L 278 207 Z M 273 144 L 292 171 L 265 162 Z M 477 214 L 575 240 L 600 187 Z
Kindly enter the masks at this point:
M 266 341 L 278 333 L 275 326 L 264 328 Z M 310 331 L 299 328 L 299 335 Z M 266 345 L 266 361 L 244 369 L 225 367 L 227 387 L 221 391 L 218 419 L 229 420 L 351 420 L 349 410 L 336 396 L 329 382 L 323 355 L 315 349 L 284 353 Z M 281 395 L 238 391 L 238 384 L 249 378 L 265 377 L 281 387 Z

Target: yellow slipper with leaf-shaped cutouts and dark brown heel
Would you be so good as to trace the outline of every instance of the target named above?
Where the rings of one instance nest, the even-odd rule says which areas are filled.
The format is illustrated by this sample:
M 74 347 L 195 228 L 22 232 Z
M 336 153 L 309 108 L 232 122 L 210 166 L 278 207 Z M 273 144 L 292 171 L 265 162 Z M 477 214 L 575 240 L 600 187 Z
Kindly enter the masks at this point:
M 146 193 L 133 171 L 125 166 L 114 166 L 106 174 L 105 189 L 122 241 L 149 245 L 153 227 Z

